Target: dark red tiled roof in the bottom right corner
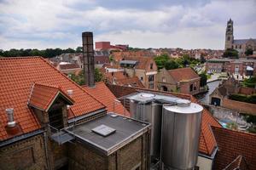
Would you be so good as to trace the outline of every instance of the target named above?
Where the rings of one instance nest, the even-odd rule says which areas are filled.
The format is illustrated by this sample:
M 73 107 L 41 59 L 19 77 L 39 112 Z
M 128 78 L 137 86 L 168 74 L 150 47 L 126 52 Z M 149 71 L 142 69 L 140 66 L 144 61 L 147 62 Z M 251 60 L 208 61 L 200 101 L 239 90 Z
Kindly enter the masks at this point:
M 256 169 L 256 134 L 242 133 L 223 127 L 212 127 L 218 144 L 213 169 L 227 167 L 237 156 L 243 156 L 249 169 Z

